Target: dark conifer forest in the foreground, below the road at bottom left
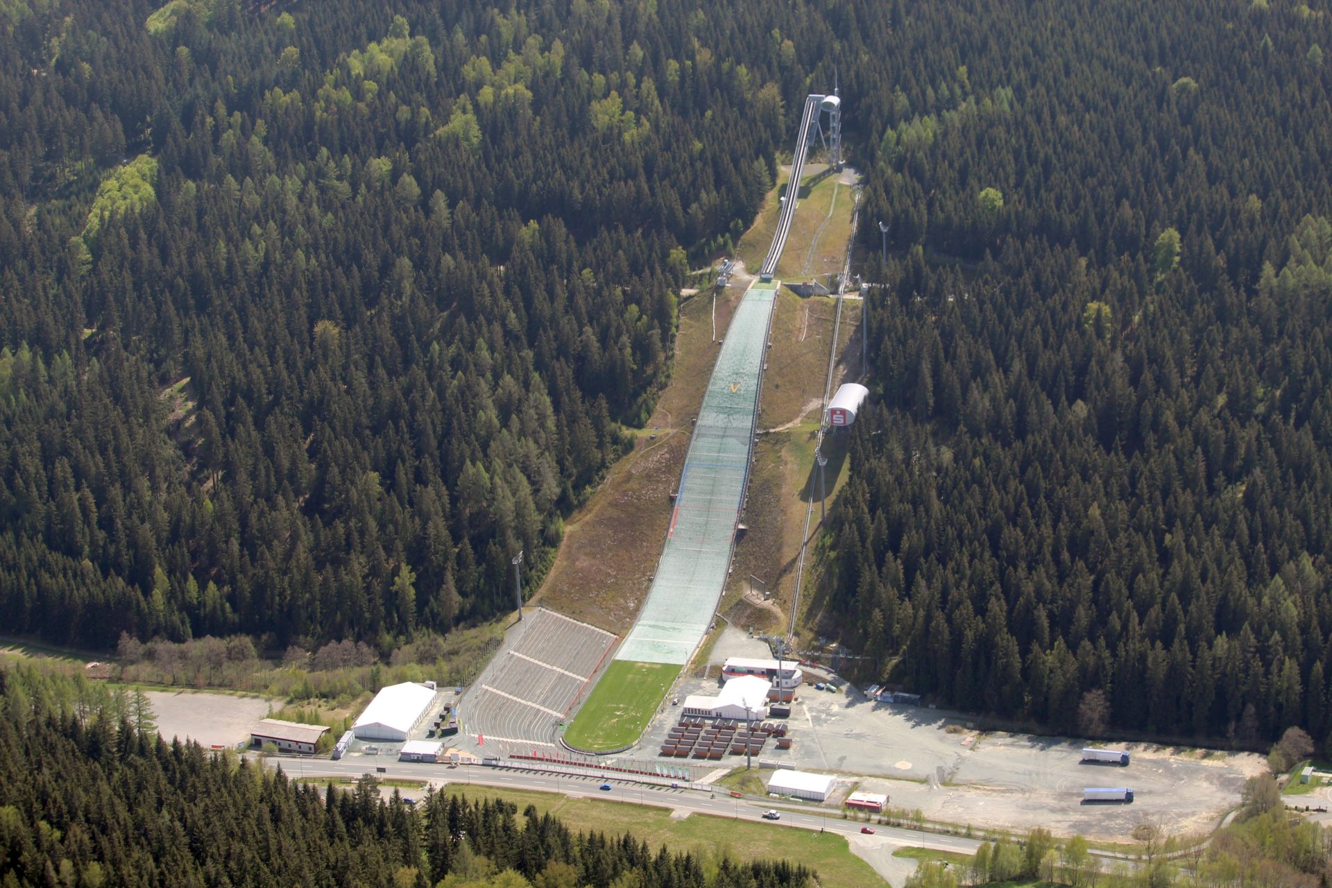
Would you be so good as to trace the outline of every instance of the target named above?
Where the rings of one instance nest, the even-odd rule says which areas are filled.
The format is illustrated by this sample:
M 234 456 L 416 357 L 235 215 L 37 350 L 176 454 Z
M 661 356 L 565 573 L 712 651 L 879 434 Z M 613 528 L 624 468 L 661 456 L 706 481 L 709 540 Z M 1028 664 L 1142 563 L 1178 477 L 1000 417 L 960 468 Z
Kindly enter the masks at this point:
M 803 888 L 814 876 L 574 833 L 505 801 L 385 801 L 370 775 L 321 793 L 133 730 L 89 706 L 91 690 L 0 670 L 0 884 Z

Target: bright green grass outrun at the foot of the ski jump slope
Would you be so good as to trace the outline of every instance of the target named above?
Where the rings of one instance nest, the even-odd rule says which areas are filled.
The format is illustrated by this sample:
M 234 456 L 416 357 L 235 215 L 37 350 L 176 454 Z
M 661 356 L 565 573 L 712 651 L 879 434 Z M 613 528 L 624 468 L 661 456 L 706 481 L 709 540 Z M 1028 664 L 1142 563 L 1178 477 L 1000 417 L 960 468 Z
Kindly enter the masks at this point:
M 647 727 L 679 667 L 671 663 L 613 660 L 565 731 L 565 742 L 597 752 L 618 750 Z

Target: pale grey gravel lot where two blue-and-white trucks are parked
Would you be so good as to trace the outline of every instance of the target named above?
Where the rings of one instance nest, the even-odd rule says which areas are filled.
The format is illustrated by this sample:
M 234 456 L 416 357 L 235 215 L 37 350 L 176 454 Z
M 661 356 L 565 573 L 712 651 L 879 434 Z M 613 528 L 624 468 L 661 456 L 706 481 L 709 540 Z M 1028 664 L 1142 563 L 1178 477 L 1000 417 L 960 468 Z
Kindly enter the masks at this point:
M 726 632 L 713 659 L 763 656 L 766 646 Z M 715 694 L 718 683 L 681 679 L 675 694 Z M 657 751 L 678 710 L 666 707 L 649 727 L 641 755 Z M 762 759 L 783 767 L 860 776 L 860 789 L 887 792 L 890 804 L 920 808 L 932 820 L 1024 831 L 1044 825 L 1060 835 L 1130 840 L 1144 820 L 1169 833 L 1209 829 L 1239 803 L 1245 777 L 1263 768 L 1259 756 L 1128 744 L 1132 764 L 1082 764 L 1086 743 L 1067 738 L 976 735 L 968 716 L 911 706 L 874 703 L 855 690 L 815 691 L 806 684 L 789 720 L 794 744 Z M 951 731 L 950 732 L 950 726 Z M 1122 748 L 1116 744 L 1115 748 Z M 721 764 L 743 764 L 726 756 Z M 1127 805 L 1083 804 L 1086 787 L 1134 789 Z

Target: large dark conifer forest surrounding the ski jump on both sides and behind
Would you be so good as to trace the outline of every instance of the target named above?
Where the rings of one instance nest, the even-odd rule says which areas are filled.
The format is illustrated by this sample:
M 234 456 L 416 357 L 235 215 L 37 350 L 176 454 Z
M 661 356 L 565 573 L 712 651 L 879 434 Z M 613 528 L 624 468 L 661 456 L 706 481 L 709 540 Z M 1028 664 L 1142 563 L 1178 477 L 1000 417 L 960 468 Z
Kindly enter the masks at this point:
M 1293 0 L 3 0 L 0 623 L 507 608 L 835 72 L 882 286 L 829 616 L 959 707 L 1327 738 L 1324 48 Z

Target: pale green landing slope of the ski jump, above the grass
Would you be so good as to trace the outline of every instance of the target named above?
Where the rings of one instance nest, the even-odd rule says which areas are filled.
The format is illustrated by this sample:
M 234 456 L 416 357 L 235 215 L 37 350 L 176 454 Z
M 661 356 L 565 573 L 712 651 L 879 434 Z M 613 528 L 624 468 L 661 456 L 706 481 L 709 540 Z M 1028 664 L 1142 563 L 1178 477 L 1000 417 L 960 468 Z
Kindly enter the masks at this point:
M 685 457 L 647 602 L 617 660 L 683 666 L 726 584 L 749 481 L 777 284 L 754 284 L 731 320 Z

